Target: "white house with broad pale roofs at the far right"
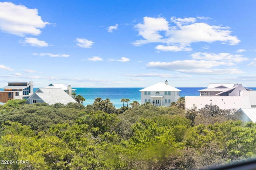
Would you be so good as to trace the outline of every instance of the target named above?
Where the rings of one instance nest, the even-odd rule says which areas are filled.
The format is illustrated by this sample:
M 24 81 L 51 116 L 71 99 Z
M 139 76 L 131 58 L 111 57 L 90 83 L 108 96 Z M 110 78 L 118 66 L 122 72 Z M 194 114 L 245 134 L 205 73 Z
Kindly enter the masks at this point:
M 198 91 L 200 96 L 185 96 L 186 108 L 195 105 L 200 109 L 210 104 L 220 109 L 256 107 L 256 91 L 244 88 L 242 84 L 210 83 L 207 88 Z

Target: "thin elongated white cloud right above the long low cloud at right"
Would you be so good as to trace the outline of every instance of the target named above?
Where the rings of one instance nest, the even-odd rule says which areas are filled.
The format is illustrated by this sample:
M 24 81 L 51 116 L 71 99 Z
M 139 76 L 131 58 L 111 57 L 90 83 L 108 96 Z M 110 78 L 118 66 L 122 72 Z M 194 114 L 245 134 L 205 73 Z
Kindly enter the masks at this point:
M 192 59 L 200 60 L 213 60 L 213 61 L 223 61 L 223 62 L 242 62 L 248 60 L 248 58 L 243 57 L 243 55 L 232 55 L 230 53 L 193 53 Z

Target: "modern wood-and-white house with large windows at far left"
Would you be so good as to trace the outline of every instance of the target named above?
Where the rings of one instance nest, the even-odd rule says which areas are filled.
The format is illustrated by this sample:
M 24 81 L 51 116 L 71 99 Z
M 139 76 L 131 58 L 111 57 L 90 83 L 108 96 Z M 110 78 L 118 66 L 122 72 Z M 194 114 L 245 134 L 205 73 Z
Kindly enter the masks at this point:
M 33 82 L 10 82 L 0 91 L 0 102 L 6 103 L 11 99 L 27 99 L 33 93 Z

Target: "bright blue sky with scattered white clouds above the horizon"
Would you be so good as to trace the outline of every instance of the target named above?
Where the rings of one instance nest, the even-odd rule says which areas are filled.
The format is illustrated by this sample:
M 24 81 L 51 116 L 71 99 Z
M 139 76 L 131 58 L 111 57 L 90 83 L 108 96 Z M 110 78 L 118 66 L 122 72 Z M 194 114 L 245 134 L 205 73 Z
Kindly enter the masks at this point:
M 254 0 L 0 0 L 0 87 L 256 87 Z

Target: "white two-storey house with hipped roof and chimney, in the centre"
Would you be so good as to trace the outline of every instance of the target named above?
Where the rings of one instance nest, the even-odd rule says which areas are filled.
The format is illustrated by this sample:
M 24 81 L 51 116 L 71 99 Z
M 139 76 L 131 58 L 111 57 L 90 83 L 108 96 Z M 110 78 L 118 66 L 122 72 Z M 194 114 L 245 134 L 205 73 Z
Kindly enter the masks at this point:
M 171 102 L 176 102 L 180 98 L 178 88 L 168 85 L 168 81 L 156 83 L 152 86 L 140 90 L 140 102 L 144 104 L 150 102 L 155 106 L 170 106 Z

